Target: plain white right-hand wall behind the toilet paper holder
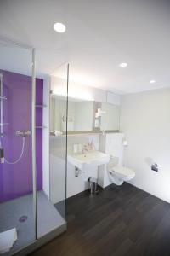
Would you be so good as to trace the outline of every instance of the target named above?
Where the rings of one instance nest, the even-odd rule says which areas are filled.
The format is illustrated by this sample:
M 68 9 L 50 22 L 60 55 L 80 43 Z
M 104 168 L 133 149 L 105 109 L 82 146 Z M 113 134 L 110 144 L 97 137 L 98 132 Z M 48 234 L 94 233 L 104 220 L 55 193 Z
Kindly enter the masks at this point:
M 170 89 L 122 96 L 121 131 L 125 165 L 136 172 L 131 183 L 170 202 Z M 150 170 L 150 159 L 159 172 Z

